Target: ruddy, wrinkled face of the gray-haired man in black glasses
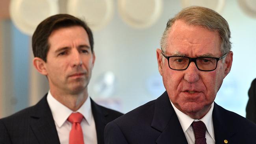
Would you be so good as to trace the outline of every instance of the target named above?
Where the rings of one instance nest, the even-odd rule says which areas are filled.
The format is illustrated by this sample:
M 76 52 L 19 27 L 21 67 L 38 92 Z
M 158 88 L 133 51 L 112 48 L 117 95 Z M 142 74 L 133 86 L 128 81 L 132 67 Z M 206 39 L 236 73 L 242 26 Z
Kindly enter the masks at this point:
M 174 22 L 167 42 L 165 52 L 167 56 L 177 54 L 187 57 L 222 56 L 221 38 L 218 32 L 201 26 L 187 25 L 182 20 Z M 159 52 L 161 50 L 158 50 Z M 230 61 L 230 54 L 226 60 Z M 226 70 L 226 63 L 220 60 L 215 70 L 204 72 L 198 70 L 194 62 L 191 62 L 186 70 L 172 70 L 168 66 L 167 59 L 163 61 L 164 63 L 159 64 L 159 70 L 171 102 L 189 116 L 204 116 L 229 72 Z

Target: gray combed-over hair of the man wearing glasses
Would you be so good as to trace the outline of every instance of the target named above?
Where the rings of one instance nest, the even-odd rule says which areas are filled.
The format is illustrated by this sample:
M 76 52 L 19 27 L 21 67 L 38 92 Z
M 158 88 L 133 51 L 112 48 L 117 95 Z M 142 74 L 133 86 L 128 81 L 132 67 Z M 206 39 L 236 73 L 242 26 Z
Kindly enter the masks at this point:
M 225 54 L 231 50 L 230 30 L 228 22 L 216 11 L 200 6 L 190 6 L 182 9 L 175 17 L 170 18 L 161 37 L 161 50 L 165 52 L 167 38 L 171 26 L 176 20 L 183 20 L 188 25 L 203 26 L 210 31 L 217 31 L 221 37 L 221 52 Z

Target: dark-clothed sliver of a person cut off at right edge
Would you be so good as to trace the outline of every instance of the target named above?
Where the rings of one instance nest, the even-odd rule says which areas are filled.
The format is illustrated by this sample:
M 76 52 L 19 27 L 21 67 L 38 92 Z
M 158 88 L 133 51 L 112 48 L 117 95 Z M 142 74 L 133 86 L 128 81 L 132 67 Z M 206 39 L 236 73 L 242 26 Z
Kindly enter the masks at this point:
M 249 100 L 246 106 L 246 118 L 256 124 L 256 79 L 252 81 L 248 95 Z

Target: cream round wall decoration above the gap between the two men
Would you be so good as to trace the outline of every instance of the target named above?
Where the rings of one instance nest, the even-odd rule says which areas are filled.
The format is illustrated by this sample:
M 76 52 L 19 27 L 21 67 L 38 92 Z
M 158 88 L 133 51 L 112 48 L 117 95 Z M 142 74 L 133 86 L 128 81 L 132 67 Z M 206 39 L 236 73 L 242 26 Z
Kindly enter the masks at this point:
M 133 28 L 148 28 L 161 15 L 162 0 L 118 0 L 121 18 Z

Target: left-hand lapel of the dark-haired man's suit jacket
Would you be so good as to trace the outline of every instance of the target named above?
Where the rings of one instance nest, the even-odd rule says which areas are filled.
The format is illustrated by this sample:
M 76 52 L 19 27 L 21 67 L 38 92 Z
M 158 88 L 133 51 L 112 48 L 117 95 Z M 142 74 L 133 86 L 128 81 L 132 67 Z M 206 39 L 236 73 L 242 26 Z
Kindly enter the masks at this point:
M 46 96 L 47 94 L 34 106 L 30 117 L 30 127 L 40 144 L 60 144 Z

